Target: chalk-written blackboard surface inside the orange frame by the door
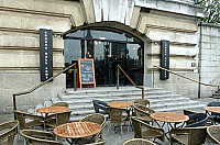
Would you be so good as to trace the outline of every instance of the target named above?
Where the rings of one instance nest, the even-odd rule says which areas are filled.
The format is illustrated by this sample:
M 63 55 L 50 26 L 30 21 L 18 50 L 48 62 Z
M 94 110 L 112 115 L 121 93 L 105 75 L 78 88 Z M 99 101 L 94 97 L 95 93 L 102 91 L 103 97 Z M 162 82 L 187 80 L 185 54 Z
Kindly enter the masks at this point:
M 89 59 L 80 59 L 80 78 L 81 82 L 92 82 L 94 83 L 94 64 Z

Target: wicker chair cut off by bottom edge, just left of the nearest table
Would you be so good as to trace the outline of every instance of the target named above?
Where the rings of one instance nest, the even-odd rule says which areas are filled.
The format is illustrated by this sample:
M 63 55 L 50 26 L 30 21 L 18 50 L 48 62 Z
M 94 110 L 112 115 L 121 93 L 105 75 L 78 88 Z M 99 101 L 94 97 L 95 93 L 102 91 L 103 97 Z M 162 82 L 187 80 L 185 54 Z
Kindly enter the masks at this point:
M 22 130 L 20 134 L 25 138 L 28 145 L 63 145 L 55 141 L 55 136 L 50 132 Z

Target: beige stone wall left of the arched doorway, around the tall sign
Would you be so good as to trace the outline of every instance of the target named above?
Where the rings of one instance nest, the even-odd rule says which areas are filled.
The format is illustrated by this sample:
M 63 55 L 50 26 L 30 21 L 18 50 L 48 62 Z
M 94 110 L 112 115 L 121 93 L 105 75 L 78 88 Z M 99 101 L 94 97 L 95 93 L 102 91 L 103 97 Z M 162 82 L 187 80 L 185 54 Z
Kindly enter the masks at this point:
M 0 113 L 12 113 L 12 93 L 40 81 L 40 29 L 53 30 L 54 74 L 64 67 L 62 33 L 81 25 L 81 8 L 66 0 L 0 0 Z M 65 75 L 31 94 L 18 97 L 19 109 L 44 102 L 66 88 Z

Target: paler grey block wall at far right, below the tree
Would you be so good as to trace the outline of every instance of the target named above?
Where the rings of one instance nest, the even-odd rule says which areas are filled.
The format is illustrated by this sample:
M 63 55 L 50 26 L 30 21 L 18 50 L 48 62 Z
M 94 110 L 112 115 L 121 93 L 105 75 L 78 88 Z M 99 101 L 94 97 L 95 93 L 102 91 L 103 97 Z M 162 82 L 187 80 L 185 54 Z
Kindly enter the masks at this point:
M 200 24 L 200 81 L 220 85 L 220 25 Z M 201 97 L 211 97 L 217 87 L 201 86 Z

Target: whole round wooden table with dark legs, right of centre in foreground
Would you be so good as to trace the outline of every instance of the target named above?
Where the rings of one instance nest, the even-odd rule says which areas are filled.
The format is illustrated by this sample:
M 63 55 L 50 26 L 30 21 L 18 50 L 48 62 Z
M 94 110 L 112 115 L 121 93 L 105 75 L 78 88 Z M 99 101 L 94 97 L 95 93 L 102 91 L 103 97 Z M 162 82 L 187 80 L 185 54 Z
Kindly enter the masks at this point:
M 169 133 L 169 127 L 176 127 L 176 124 L 178 123 L 183 123 L 189 120 L 188 115 L 185 114 L 180 114 L 180 113 L 175 113 L 175 112 L 156 112 L 156 113 L 152 113 L 150 115 L 160 127 L 164 127 L 165 123 L 167 124 L 167 130 L 168 132 L 165 133 L 165 135 L 167 133 Z M 164 122 L 162 125 L 157 122 Z M 174 123 L 174 126 L 172 125 L 172 123 Z M 166 135 L 166 138 L 168 140 L 168 136 Z

